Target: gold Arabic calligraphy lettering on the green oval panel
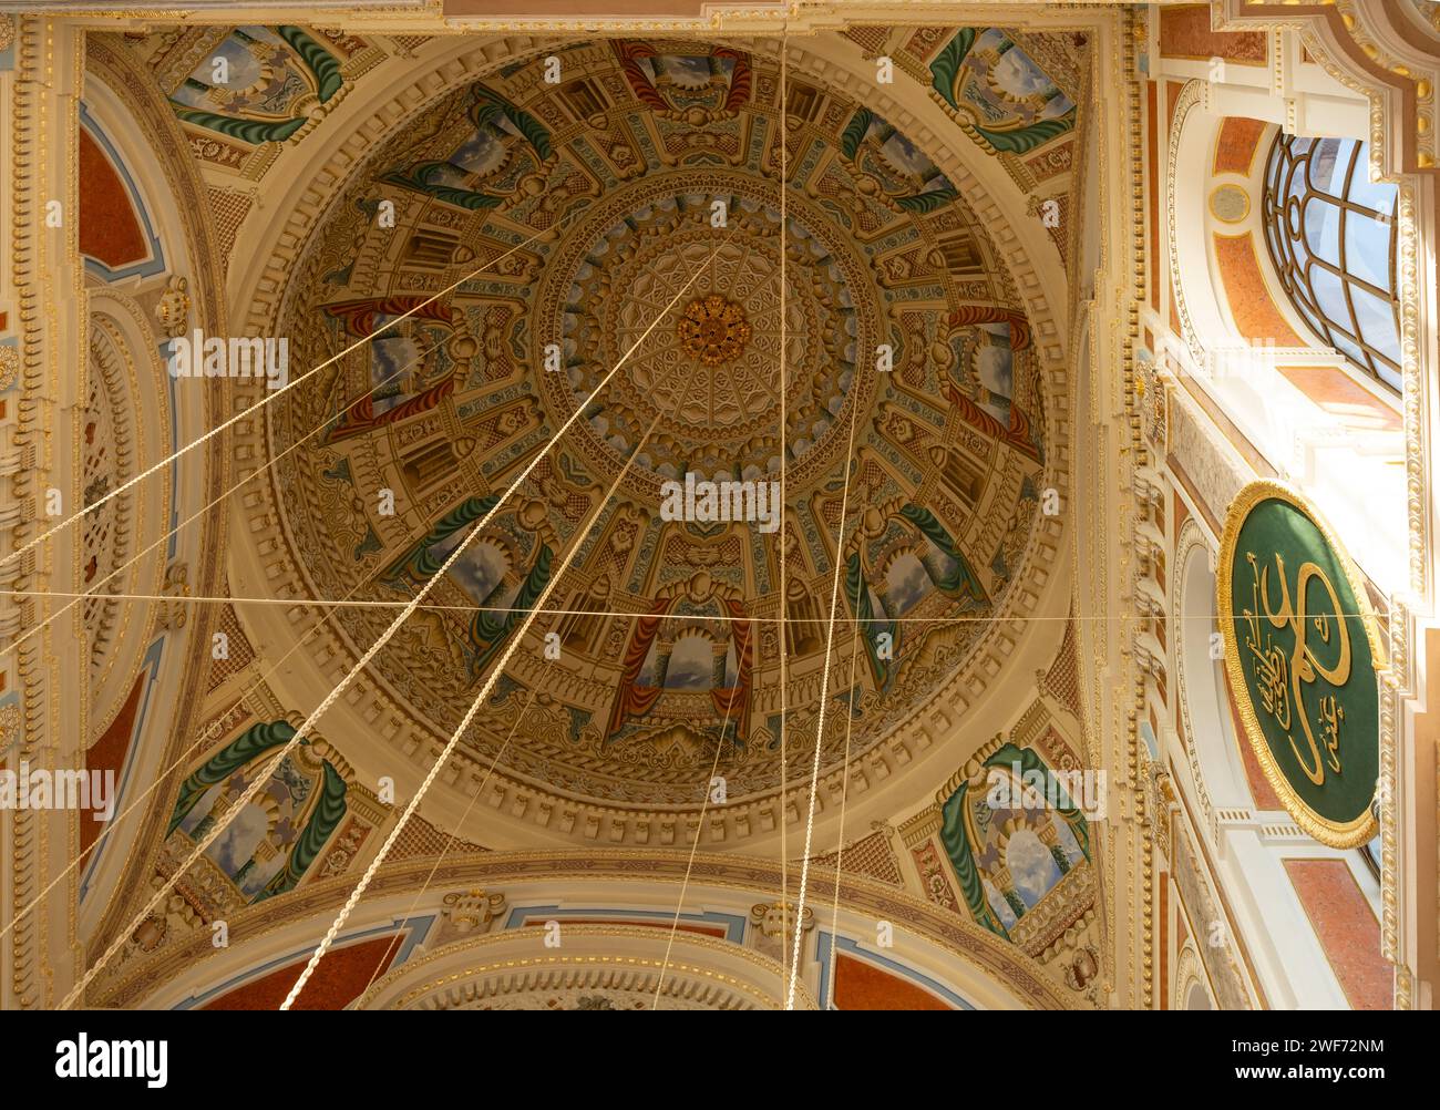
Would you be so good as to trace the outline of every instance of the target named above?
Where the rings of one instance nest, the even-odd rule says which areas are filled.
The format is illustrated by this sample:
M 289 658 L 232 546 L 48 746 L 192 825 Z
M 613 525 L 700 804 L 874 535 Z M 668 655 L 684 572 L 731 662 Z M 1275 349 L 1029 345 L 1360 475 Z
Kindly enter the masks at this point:
M 1341 773 L 1341 724 L 1345 720 L 1345 710 L 1336 704 L 1333 694 L 1322 697 L 1316 705 L 1315 724 L 1319 726 L 1320 743 L 1315 740 L 1315 730 L 1310 726 L 1310 716 L 1305 705 L 1305 690 L 1316 678 L 1325 680 L 1332 688 L 1344 687 L 1349 681 L 1351 672 L 1351 644 L 1349 629 L 1341 610 L 1339 596 L 1329 577 L 1315 563 L 1302 563 L 1300 573 L 1295 583 L 1295 597 L 1290 596 L 1290 583 L 1284 576 L 1284 557 L 1274 557 L 1276 577 L 1280 580 L 1280 605 L 1270 602 L 1270 567 L 1261 567 L 1253 551 L 1246 551 L 1246 560 L 1251 572 L 1253 609 L 1243 609 L 1248 633 L 1246 648 L 1251 654 L 1256 687 L 1260 704 L 1274 723 L 1284 731 L 1290 741 L 1300 770 L 1316 786 L 1325 783 L 1325 767 L 1329 764 L 1336 775 Z M 1305 612 L 1306 592 L 1310 579 L 1319 579 L 1331 599 L 1333 616 L 1309 616 Z M 1289 656 L 1274 644 L 1269 632 L 1261 644 L 1261 612 L 1273 628 L 1287 628 L 1295 636 L 1295 646 Z M 1325 667 L 1306 644 L 1310 628 L 1319 635 L 1322 644 L 1331 642 L 1331 625 L 1338 629 L 1339 658 L 1333 667 Z M 1293 713 L 1292 713 L 1293 700 Z M 1292 716 L 1299 720 L 1305 731 L 1305 741 L 1309 747 L 1309 757 L 1300 753 L 1292 734 Z M 1322 747 L 1323 744 L 1323 754 Z

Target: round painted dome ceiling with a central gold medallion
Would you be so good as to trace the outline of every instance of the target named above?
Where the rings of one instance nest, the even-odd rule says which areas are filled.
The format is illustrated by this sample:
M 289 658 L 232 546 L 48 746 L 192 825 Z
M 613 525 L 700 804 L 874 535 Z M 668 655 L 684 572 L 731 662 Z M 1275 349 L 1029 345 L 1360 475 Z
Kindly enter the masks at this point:
M 1031 330 L 955 184 L 873 107 L 792 66 L 782 222 L 778 63 L 694 42 L 560 59 L 560 84 L 530 59 L 406 124 L 312 238 L 281 321 L 292 376 L 377 337 L 268 407 L 268 449 L 285 452 L 272 494 L 302 569 L 269 587 L 389 605 L 333 610 L 359 655 L 624 363 L 372 680 L 448 736 L 598 511 L 552 596 L 560 613 L 536 622 L 469 752 L 488 764 L 536 691 L 501 773 L 696 805 L 719 740 L 732 796 L 772 790 L 782 704 L 808 764 L 795 739 L 814 739 L 837 560 L 847 623 L 822 767 L 842 754 L 845 708 L 861 750 L 963 665 L 973 618 L 1034 600 L 1011 590 L 1045 459 Z M 667 479 L 782 469 L 778 531 L 660 513 Z M 876 635 L 851 687 L 857 596 Z

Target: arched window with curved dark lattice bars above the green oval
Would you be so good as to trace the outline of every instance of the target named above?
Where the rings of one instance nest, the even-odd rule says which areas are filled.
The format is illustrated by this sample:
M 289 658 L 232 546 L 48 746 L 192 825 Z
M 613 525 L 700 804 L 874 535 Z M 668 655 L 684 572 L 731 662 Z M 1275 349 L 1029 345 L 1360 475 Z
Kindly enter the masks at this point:
M 1372 184 L 1368 164 L 1368 143 L 1276 135 L 1266 166 L 1266 245 L 1315 334 L 1398 392 L 1398 190 Z

